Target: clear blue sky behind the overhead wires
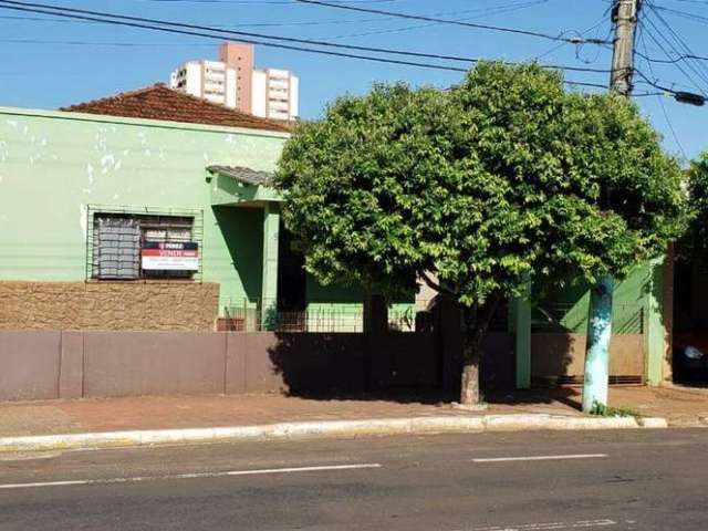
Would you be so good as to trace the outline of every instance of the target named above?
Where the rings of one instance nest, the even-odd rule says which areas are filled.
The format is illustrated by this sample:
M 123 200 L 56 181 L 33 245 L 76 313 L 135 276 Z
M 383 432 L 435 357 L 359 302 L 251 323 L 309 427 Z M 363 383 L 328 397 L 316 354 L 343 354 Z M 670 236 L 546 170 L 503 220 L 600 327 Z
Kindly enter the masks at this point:
M 611 51 L 597 45 L 560 45 L 551 40 L 527 35 L 387 18 L 290 0 L 34 1 L 218 24 L 236 31 L 465 58 L 523 61 L 541 56 L 540 60 L 546 63 L 600 70 L 608 69 L 611 63 Z M 344 3 L 436 14 L 551 35 L 576 37 L 592 28 L 585 37 L 605 39 L 611 30 L 607 13 L 610 2 L 606 0 L 353 0 Z M 645 7 L 644 37 L 638 40 L 641 51 L 644 52 L 646 45 L 648 55 L 665 59 L 662 49 L 670 52 L 669 42 L 678 49 L 679 44 L 664 25 L 665 21 L 693 52 L 708 56 L 708 41 L 705 40 L 708 1 L 652 0 L 652 3 L 663 10 Z M 695 13 L 698 18 L 670 10 Z M 0 10 L 0 105 L 55 108 L 167 81 L 170 71 L 186 60 L 216 58 L 217 46 L 218 41 L 200 38 L 58 21 L 51 15 Z M 376 81 L 403 80 L 416 85 L 447 86 L 461 76 L 455 72 L 264 46 L 257 48 L 257 65 L 289 69 L 300 76 L 301 114 L 306 118 L 321 115 L 326 102 L 339 94 L 363 93 Z M 708 61 L 702 62 L 705 72 L 696 63 L 679 62 L 678 65 L 680 70 L 676 64 L 649 65 L 641 60 L 638 69 L 650 79 L 659 79 L 664 86 L 708 93 Z M 606 73 L 566 73 L 569 80 L 602 85 L 607 83 L 607 77 Z M 647 85 L 637 85 L 637 93 L 647 91 L 656 92 Z M 665 136 L 665 146 L 670 153 L 678 156 L 685 153 L 690 158 L 708 148 L 708 106 L 683 105 L 666 95 L 638 97 L 636 101 Z

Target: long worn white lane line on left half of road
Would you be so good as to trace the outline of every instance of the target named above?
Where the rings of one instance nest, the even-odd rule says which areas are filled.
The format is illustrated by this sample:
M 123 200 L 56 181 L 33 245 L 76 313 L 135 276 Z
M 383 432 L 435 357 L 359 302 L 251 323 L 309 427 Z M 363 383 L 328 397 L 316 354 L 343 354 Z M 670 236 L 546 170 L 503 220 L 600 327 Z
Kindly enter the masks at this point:
M 110 483 L 137 483 L 139 481 L 159 481 L 171 479 L 196 479 L 196 478 L 222 478 L 230 476 L 259 476 L 268 473 L 295 473 L 295 472 L 324 472 L 334 470 L 358 470 L 364 468 L 381 468 L 378 462 L 361 462 L 356 465 L 322 465 L 317 467 L 289 467 L 289 468 L 261 468 L 256 470 L 227 470 L 222 472 L 194 472 L 175 473 L 167 476 L 136 476 L 132 478 L 108 478 L 108 479 L 77 479 L 69 481 L 44 481 L 32 483 L 6 483 L 0 485 L 0 489 L 32 489 L 39 487 L 66 487 L 75 485 L 110 485 Z

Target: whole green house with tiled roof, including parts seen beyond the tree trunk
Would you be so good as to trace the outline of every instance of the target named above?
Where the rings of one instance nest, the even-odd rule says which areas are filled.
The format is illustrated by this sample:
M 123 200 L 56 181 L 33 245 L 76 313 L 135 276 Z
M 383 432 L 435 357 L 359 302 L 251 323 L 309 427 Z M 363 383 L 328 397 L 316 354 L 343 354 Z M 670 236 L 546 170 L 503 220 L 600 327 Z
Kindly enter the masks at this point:
M 270 179 L 288 131 L 163 85 L 0 107 L 0 330 L 362 331 L 361 290 L 305 275 L 281 227 Z M 618 285 L 614 383 L 670 378 L 670 271 L 642 264 Z M 388 322 L 413 330 L 433 298 L 391 306 Z M 493 377 L 577 383 L 587 300 L 566 288 L 510 301 Z M 436 348 L 458 352 L 459 316 L 438 317 L 452 332 Z

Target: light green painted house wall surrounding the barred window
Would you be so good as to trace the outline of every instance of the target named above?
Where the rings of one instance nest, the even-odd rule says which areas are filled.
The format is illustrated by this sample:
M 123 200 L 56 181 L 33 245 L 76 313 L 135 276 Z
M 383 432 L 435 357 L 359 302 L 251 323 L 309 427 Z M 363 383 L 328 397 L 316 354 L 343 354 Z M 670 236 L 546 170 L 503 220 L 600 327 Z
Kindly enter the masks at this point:
M 274 169 L 287 135 L 0 107 L 0 280 L 82 281 L 88 205 L 204 210 L 202 280 L 260 296 L 263 214 L 212 211 L 205 167 Z

